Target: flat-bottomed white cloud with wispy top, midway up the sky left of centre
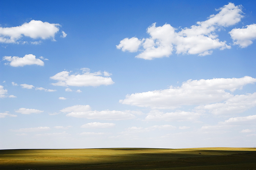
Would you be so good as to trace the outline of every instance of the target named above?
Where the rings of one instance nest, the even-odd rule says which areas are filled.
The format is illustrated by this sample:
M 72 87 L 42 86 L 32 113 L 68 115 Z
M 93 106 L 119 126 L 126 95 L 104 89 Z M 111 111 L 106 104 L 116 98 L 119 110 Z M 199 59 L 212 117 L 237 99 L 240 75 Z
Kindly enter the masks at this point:
M 100 85 L 111 85 L 114 82 L 110 77 L 101 76 L 100 71 L 90 73 L 90 69 L 84 68 L 82 74 L 70 74 L 68 71 L 62 71 L 56 75 L 50 77 L 52 80 L 57 80 L 57 83 L 52 83 L 55 86 L 100 86 Z M 108 73 L 108 75 L 110 75 Z M 72 91 L 66 89 L 66 91 Z

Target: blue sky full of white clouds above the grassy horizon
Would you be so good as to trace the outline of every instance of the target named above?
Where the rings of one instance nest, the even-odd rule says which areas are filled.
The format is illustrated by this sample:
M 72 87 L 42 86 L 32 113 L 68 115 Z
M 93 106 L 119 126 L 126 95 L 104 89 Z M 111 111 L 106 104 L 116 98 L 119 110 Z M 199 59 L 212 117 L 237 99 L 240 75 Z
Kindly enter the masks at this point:
M 256 147 L 255 1 L 0 2 L 0 149 Z

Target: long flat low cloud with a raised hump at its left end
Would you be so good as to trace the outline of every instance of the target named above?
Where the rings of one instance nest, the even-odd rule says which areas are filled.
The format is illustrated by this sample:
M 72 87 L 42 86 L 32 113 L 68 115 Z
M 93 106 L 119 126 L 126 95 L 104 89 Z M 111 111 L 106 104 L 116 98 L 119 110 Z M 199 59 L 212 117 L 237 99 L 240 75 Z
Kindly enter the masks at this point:
M 133 119 L 139 114 L 137 111 L 116 111 L 116 110 L 92 110 L 89 105 L 75 105 L 60 110 L 61 112 L 68 113 L 67 116 L 87 119 L 104 119 L 104 120 L 125 120 Z

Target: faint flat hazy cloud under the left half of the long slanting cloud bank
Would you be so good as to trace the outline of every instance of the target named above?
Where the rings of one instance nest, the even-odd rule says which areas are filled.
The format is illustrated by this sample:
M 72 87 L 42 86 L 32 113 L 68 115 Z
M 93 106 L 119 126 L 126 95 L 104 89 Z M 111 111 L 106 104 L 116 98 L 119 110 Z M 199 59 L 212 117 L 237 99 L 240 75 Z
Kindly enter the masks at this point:
M 200 117 L 200 113 L 188 111 L 161 112 L 152 110 L 148 113 L 146 121 L 195 121 Z

